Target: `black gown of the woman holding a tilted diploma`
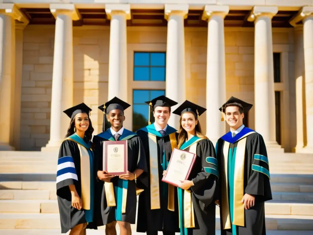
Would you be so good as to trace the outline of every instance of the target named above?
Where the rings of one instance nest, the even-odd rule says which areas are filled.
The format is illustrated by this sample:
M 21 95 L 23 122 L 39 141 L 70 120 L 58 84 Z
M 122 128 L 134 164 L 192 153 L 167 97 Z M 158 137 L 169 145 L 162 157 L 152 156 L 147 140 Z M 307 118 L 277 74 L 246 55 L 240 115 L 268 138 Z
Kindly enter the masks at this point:
M 214 196 L 219 174 L 214 145 L 208 139 L 194 136 L 180 149 L 192 153 L 196 150 L 196 160 L 188 178 L 194 186 L 187 191 L 178 188 L 181 235 L 215 235 Z M 184 200 L 188 194 L 191 194 L 194 209 L 192 217 L 188 217 L 190 205 Z

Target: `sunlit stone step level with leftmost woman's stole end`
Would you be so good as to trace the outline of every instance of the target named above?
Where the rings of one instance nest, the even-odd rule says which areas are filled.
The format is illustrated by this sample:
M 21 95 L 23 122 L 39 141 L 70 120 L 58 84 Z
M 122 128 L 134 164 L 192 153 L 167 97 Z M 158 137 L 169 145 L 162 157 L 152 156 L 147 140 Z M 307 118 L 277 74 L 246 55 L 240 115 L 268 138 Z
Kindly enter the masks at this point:
M 0 213 L 59 213 L 57 200 L 0 200 Z M 219 207 L 216 207 L 219 215 Z M 291 202 L 266 202 L 266 215 L 313 216 L 313 204 Z

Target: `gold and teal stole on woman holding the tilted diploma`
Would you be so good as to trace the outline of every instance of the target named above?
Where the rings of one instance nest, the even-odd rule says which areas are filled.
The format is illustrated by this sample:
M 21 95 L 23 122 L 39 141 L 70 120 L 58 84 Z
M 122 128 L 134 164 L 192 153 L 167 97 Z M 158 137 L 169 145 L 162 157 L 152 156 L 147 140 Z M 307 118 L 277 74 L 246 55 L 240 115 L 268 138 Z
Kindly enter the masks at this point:
M 203 138 L 193 136 L 188 141 L 185 141 L 184 144 L 180 147 L 181 150 L 189 148 L 190 153 L 197 155 L 197 143 Z M 178 211 L 179 211 L 179 228 L 181 235 L 187 235 L 187 228 L 195 227 L 195 217 L 194 209 L 192 204 L 192 197 L 190 190 L 183 190 L 177 188 L 178 190 Z

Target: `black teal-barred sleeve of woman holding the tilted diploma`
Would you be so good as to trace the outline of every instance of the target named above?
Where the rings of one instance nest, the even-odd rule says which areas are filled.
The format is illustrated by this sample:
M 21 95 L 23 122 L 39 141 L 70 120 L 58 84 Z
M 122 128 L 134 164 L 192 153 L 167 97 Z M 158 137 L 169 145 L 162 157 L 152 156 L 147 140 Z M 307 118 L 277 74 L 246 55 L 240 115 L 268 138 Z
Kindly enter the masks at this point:
M 216 154 L 210 140 L 203 139 L 198 142 L 197 157 L 201 158 L 202 167 L 192 179 L 194 185 L 191 190 L 194 196 L 207 207 L 213 201 L 218 181 Z

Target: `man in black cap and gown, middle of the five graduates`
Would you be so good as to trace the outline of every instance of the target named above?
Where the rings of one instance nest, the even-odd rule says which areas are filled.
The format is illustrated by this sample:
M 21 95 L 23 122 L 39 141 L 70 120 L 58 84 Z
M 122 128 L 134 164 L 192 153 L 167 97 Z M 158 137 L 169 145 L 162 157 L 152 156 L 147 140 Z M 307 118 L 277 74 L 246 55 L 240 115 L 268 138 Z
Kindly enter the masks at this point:
M 174 235 L 179 232 L 177 187 L 162 182 L 172 150 L 177 148 L 177 130 L 167 124 L 171 107 L 177 102 L 159 96 L 149 104 L 149 125 L 137 131 L 141 138 L 148 165 L 149 188 L 139 195 L 137 232 L 147 235 Z M 151 124 L 151 109 L 155 122 Z

